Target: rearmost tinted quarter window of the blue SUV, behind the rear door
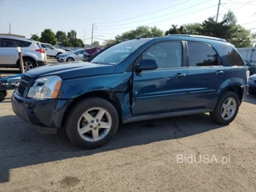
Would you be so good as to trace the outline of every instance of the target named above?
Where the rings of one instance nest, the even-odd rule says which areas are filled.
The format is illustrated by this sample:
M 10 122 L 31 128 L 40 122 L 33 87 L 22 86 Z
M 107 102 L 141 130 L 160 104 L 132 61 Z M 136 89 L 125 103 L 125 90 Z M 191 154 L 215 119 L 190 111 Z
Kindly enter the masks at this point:
M 223 54 L 226 55 L 226 58 L 229 60 L 231 66 L 245 66 L 245 63 L 242 61 L 241 56 L 238 54 L 237 50 L 232 46 L 219 46 L 223 51 Z

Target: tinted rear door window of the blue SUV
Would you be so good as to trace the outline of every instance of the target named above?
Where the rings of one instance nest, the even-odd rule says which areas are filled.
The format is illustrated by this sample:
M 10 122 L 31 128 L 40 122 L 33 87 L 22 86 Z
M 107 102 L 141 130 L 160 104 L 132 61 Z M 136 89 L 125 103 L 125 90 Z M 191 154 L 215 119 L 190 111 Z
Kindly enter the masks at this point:
M 218 54 L 208 44 L 188 42 L 190 66 L 218 66 Z

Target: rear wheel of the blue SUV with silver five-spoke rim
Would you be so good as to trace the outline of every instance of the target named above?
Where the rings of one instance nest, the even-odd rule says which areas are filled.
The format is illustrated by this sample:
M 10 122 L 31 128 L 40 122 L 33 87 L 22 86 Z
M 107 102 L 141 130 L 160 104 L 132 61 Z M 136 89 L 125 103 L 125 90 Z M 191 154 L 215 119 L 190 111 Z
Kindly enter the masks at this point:
M 231 91 L 226 91 L 218 100 L 213 112 L 210 112 L 210 118 L 221 125 L 228 125 L 233 122 L 238 114 L 240 101 L 238 95 Z

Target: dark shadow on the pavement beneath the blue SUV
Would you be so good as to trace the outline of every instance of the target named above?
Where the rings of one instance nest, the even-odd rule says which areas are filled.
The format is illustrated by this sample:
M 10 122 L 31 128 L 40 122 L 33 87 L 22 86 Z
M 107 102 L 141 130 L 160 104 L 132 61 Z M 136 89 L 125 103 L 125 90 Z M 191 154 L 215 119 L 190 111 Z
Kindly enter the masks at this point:
M 134 122 L 120 126 L 116 137 L 106 146 L 82 150 L 65 134 L 40 134 L 34 126 L 14 115 L 0 118 L 0 182 L 8 182 L 10 170 L 44 162 L 179 139 L 221 128 L 208 114 Z

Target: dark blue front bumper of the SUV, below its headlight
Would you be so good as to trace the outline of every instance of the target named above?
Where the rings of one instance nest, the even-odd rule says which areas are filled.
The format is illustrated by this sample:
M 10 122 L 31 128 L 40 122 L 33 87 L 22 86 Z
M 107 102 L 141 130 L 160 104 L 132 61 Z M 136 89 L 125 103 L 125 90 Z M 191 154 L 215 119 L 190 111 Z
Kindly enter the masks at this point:
M 40 132 L 50 134 L 62 127 L 62 119 L 70 102 L 72 100 L 22 98 L 17 90 L 11 97 L 12 108 L 19 118 L 38 126 Z

